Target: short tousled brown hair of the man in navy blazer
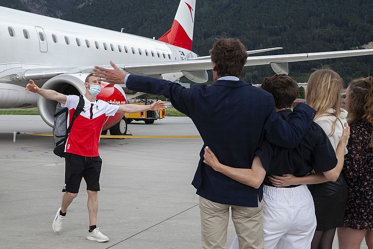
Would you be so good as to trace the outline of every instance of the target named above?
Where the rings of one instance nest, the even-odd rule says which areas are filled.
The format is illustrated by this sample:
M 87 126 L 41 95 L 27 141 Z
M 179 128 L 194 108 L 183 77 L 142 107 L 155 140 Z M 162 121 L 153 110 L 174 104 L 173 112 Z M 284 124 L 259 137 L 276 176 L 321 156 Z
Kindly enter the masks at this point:
M 247 59 L 245 46 L 234 38 L 217 40 L 210 49 L 210 55 L 219 77 L 240 77 Z

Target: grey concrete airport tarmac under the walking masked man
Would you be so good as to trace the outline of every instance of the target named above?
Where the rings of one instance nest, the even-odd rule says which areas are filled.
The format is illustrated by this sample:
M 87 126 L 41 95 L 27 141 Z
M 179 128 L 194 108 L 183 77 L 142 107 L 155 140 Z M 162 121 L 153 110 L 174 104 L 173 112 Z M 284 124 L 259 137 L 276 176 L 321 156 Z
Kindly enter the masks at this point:
M 188 117 L 152 125 L 135 121 L 128 130 L 136 136 L 199 135 Z M 14 131 L 21 133 L 16 142 Z M 24 134 L 51 132 L 38 115 L 0 115 L 0 248 L 201 248 L 198 196 L 191 185 L 201 138 L 101 139 L 97 226 L 110 240 L 98 243 L 85 239 L 84 181 L 63 230 L 52 230 L 64 159 L 53 154 L 52 137 Z M 233 237 L 230 221 L 227 248 Z

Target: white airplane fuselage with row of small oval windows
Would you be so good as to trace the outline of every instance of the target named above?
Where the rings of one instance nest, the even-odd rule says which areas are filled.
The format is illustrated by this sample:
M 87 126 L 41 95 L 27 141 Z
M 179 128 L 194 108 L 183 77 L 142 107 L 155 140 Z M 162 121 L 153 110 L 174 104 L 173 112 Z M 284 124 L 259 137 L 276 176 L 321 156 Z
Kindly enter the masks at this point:
M 17 85 L 24 88 L 28 80 L 25 76 L 30 78 L 33 74 L 38 75 L 36 83 L 42 86 L 48 79 L 40 77 L 45 68 L 50 71 L 51 68 L 107 65 L 110 60 L 124 65 L 162 63 L 197 57 L 188 49 L 137 35 L 4 7 L 0 7 L 0 14 L 0 89 L 12 89 L 8 91 L 8 96 L 9 93 L 20 91 Z M 56 70 L 55 75 L 58 74 Z M 162 76 L 176 80 L 182 73 Z M 14 101 L 0 99 L 0 108 L 35 107 L 36 99 L 30 100 L 32 103 L 27 106 L 17 106 L 10 103 Z

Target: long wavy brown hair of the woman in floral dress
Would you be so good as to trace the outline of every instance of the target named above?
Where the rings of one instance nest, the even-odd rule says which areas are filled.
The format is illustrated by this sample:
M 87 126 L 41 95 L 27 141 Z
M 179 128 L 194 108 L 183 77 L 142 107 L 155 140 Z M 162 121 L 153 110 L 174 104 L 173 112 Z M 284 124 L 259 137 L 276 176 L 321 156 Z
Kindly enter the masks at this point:
M 348 123 L 353 125 L 365 119 L 373 126 L 373 77 L 354 80 L 348 88 Z M 373 131 L 369 146 L 373 147 Z

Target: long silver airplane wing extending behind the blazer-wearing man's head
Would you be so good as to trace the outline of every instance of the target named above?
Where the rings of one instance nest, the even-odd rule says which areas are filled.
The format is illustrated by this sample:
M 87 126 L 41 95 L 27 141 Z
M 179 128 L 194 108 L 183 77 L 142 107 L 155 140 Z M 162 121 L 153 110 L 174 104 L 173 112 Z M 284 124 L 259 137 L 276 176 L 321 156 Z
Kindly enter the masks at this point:
M 332 52 L 314 52 L 314 53 L 294 53 L 249 56 L 245 67 L 257 65 L 271 65 L 273 70 L 279 73 L 288 73 L 287 63 L 296 61 L 341 58 L 361 55 L 373 55 L 373 49 L 345 50 Z M 210 56 L 204 56 L 205 59 L 189 59 L 183 61 L 169 61 L 164 63 L 141 63 L 141 64 L 119 64 L 117 67 L 122 68 L 125 72 L 138 75 L 162 75 L 178 72 L 198 72 L 211 70 L 212 64 Z M 59 74 L 88 73 L 92 71 L 94 65 L 79 68 L 40 68 L 28 69 L 24 72 L 24 79 L 50 79 Z M 111 68 L 110 65 L 101 65 L 103 68 Z

